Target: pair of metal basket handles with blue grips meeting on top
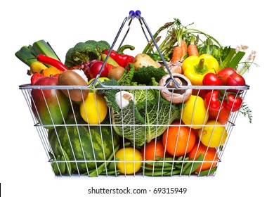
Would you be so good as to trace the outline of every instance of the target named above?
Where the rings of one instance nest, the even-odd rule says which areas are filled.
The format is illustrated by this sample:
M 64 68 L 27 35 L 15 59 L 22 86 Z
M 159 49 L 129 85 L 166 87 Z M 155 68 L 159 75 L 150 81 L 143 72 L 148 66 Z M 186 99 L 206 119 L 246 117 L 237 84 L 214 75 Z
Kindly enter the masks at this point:
M 169 76 L 171 77 L 171 80 L 174 82 L 176 88 L 180 87 L 180 84 L 178 84 L 178 82 L 174 79 L 174 77 L 173 77 L 171 71 L 169 70 L 169 67 L 168 67 L 168 65 L 167 65 L 167 62 L 164 60 L 164 57 L 162 56 L 162 53 L 161 53 L 161 51 L 159 50 L 159 46 L 157 45 L 157 42 L 155 41 L 155 39 L 154 39 L 152 33 L 150 32 L 150 28 L 148 27 L 148 24 L 145 22 L 145 19 L 141 16 L 141 11 L 138 11 L 138 10 L 137 10 L 136 12 L 134 12 L 134 11 L 129 11 L 129 16 L 126 16 L 126 18 L 124 18 L 124 20 L 123 20 L 123 22 L 122 22 L 122 25 L 121 25 L 121 27 L 119 28 L 119 31 L 117 32 L 117 35 L 116 35 L 116 37 L 115 37 L 115 39 L 114 39 L 112 45 L 110 46 L 110 49 L 109 49 L 109 51 L 108 51 L 108 53 L 107 53 L 107 56 L 106 56 L 106 58 L 105 58 L 105 61 L 103 62 L 103 65 L 102 65 L 102 67 L 100 68 L 100 70 L 99 70 L 99 72 L 98 72 L 98 75 L 96 76 L 95 80 L 93 80 L 93 82 L 91 82 L 90 86 L 94 88 L 94 87 L 96 86 L 96 83 L 97 83 L 97 82 L 100 83 L 100 84 L 102 84 L 102 83 L 100 82 L 100 80 L 98 80 L 98 78 L 100 77 L 101 72 L 103 72 L 103 68 L 105 67 L 105 63 L 107 62 L 107 59 L 109 58 L 110 53 L 111 53 L 112 49 L 114 48 L 114 46 L 115 46 L 115 44 L 116 44 L 116 42 L 117 42 L 117 39 L 119 38 L 119 35 L 121 34 L 121 32 L 122 32 L 122 30 L 123 30 L 123 28 L 124 28 L 125 23 L 126 23 L 127 21 L 129 21 L 128 29 L 126 30 L 126 33 L 124 34 L 124 37 L 123 37 L 123 39 L 122 39 L 122 42 L 119 44 L 119 48 L 122 46 L 122 44 L 123 44 L 123 42 L 124 42 L 124 39 L 126 39 L 126 36 L 127 36 L 127 34 L 129 33 L 130 25 L 131 25 L 131 22 L 132 22 L 132 20 L 133 20 L 134 18 L 137 18 L 137 19 L 139 20 L 139 22 L 140 22 L 140 24 L 141 24 L 141 29 L 143 30 L 143 34 L 145 35 L 145 38 L 146 38 L 147 41 L 149 42 L 148 36 L 147 36 L 147 34 L 145 33 L 145 29 L 143 28 L 143 25 L 145 25 L 145 28 L 146 28 L 146 30 L 148 31 L 148 34 L 150 35 L 150 39 L 152 39 L 153 44 L 155 44 L 155 47 L 156 47 L 157 51 L 159 52 L 159 56 L 161 56 L 162 61 L 163 61 L 163 63 L 164 63 L 164 66 L 167 68 L 167 72 L 169 73 Z M 119 49 L 119 48 L 118 48 L 118 49 Z

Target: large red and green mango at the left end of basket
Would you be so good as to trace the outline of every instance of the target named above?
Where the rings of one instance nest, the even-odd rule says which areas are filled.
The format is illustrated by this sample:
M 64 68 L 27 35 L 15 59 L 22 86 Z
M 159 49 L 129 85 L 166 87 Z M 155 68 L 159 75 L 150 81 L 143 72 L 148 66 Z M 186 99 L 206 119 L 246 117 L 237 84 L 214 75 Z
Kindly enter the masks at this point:
M 57 77 L 41 77 L 34 86 L 57 86 Z M 70 109 L 70 100 L 60 89 L 33 88 L 32 111 L 37 121 L 47 129 L 63 123 Z

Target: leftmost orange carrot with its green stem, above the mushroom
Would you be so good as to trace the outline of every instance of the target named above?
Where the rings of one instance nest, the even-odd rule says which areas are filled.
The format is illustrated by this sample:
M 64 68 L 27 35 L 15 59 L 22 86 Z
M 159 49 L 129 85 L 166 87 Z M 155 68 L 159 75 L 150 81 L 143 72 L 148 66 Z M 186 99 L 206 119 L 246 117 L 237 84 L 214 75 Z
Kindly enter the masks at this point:
M 182 61 L 183 55 L 187 52 L 188 47 L 183 40 L 183 27 L 175 30 L 177 46 L 174 47 L 174 51 L 171 57 L 171 63 L 175 63 L 176 61 Z

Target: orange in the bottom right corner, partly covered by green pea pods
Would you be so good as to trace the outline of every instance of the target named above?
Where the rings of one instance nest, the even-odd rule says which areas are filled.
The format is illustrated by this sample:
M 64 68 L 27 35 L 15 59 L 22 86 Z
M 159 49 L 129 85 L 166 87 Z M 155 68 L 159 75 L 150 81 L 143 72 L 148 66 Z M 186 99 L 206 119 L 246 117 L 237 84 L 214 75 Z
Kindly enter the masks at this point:
M 207 146 L 204 146 L 204 144 L 202 144 L 201 142 L 199 144 L 199 140 L 196 141 L 193 149 L 187 154 L 187 157 L 190 159 L 197 158 L 201 153 L 204 156 L 204 160 L 203 163 L 199 167 L 197 167 L 195 172 L 209 170 L 217 165 L 216 161 L 218 161 L 218 153 L 216 151 L 216 148 L 208 148 Z

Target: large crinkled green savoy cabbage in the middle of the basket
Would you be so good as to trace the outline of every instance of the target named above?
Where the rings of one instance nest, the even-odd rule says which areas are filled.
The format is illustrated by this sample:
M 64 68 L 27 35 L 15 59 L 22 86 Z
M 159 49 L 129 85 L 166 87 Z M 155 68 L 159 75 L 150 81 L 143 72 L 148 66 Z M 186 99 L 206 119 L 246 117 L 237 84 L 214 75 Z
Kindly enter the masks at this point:
M 150 69 L 150 84 L 156 85 L 159 81 L 159 73 L 155 70 L 158 77 L 153 76 Z M 111 109 L 112 126 L 119 136 L 129 139 L 136 146 L 142 146 L 145 142 L 150 142 L 157 136 L 164 133 L 167 127 L 180 118 L 180 108 L 166 101 L 159 94 L 159 89 L 146 88 L 146 84 L 134 81 L 132 73 L 136 71 L 130 69 L 125 72 L 124 77 L 116 82 L 115 80 L 106 81 L 105 84 L 111 85 L 111 89 L 105 89 L 101 94 L 105 94 L 107 106 Z M 142 69 L 145 72 L 145 68 Z M 164 73 L 162 73 L 164 75 Z M 155 80 L 157 78 L 157 80 Z M 114 86 L 130 85 L 138 88 L 115 89 Z M 129 101 L 129 105 L 119 108 L 115 101 L 115 94 L 119 91 L 128 91 L 133 94 L 134 101 Z

